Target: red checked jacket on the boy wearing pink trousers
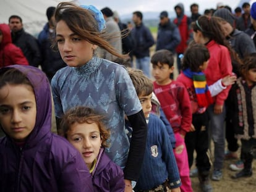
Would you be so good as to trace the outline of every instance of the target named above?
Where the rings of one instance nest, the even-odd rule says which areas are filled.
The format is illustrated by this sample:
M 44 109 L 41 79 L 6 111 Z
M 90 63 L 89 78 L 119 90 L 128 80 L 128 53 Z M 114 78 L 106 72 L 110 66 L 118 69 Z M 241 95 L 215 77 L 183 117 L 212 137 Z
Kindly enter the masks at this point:
M 160 101 L 161 107 L 174 133 L 186 135 L 192 123 L 192 111 L 186 87 L 177 81 L 168 85 L 154 84 L 154 93 Z

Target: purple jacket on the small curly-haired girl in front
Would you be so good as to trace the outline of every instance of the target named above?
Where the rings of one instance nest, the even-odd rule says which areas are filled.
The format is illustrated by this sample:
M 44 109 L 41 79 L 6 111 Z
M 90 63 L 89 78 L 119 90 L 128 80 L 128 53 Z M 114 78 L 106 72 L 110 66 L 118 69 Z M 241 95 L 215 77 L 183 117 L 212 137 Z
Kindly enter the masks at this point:
M 122 172 L 121 167 L 109 159 L 103 148 L 100 149 L 92 175 L 95 191 L 124 191 L 124 172 Z

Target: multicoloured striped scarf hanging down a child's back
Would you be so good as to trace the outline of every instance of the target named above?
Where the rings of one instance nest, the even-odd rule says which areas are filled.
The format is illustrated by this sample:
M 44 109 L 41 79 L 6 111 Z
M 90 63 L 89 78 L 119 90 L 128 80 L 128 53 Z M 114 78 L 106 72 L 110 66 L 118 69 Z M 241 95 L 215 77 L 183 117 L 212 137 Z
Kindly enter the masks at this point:
M 211 93 L 208 89 L 205 74 L 203 72 L 192 72 L 190 69 L 183 70 L 184 75 L 193 80 L 195 94 L 197 95 L 197 104 L 200 107 L 208 107 L 213 103 Z

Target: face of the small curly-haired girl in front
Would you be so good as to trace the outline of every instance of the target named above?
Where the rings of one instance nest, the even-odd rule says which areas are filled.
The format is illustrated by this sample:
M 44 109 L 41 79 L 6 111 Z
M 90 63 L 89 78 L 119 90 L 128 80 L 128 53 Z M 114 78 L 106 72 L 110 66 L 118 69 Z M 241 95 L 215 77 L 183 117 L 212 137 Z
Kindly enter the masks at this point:
M 67 140 L 80 152 L 88 169 L 91 169 L 102 143 L 98 125 L 75 122 L 67 132 Z

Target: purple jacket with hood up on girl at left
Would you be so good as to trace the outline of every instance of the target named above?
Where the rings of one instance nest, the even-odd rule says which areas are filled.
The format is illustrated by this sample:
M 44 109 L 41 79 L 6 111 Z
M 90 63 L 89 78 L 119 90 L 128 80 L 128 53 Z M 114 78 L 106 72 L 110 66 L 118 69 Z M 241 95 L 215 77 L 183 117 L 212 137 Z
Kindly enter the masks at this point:
M 50 131 L 51 91 L 45 74 L 32 66 L 8 67 L 25 73 L 33 85 L 36 123 L 22 149 L 8 135 L 1 138 L 0 191 L 93 191 L 80 153 Z

